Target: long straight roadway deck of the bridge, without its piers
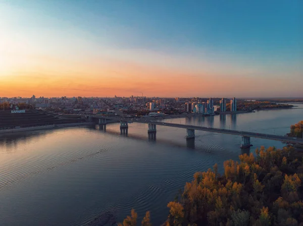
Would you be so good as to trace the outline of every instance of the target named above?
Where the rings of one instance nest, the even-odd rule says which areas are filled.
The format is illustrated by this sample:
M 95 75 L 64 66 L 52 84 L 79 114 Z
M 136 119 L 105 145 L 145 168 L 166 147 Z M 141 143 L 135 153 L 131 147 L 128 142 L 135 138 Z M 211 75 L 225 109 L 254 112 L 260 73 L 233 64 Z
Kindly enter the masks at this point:
M 170 126 L 176 128 L 183 128 L 183 129 L 192 129 L 192 130 L 202 130 L 207 132 L 216 132 L 216 133 L 224 133 L 230 135 L 238 135 L 238 136 L 247 136 L 247 137 L 256 137 L 261 139 L 270 139 L 270 140 L 279 140 L 282 142 L 291 142 L 296 144 L 303 144 L 303 138 L 296 138 L 296 137 L 288 137 L 288 136 L 279 136 L 273 134 L 266 134 L 266 133 L 257 133 L 257 132 L 247 132 L 247 131 L 239 131 L 239 130 L 231 130 L 231 129 L 220 129 L 220 128 L 211 128 L 211 127 L 204 127 L 204 126 L 195 126 L 195 125 L 184 125 L 184 124 L 177 124 L 177 123 L 170 123 L 170 122 L 161 122 L 161 121 L 154 121 L 154 120 L 147 120 L 147 119 L 136 119 L 136 118 L 112 118 L 112 117 L 103 117 L 108 118 L 111 120 L 117 121 L 133 121 L 138 123 L 145 123 L 145 124 L 154 124 L 154 125 L 161 125 L 161 126 Z

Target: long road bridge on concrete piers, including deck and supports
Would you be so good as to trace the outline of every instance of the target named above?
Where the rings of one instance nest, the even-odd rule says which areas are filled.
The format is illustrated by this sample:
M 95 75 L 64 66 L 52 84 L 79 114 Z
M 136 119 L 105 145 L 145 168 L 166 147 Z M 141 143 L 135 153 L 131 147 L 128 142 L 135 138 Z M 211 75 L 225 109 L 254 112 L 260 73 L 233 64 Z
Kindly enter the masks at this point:
M 176 127 L 186 129 L 186 139 L 192 139 L 195 137 L 195 130 L 207 131 L 207 132 L 215 132 L 215 133 L 224 133 L 230 135 L 238 135 L 242 137 L 241 148 L 250 147 L 250 137 L 256 137 L 261 139 L 270 139 L 270 140 L 279 140 L 286 143 L 293 143 L 293 144 L 301 144 L 303 145 L 303 138 L 296 138 L 296 137 L 288 137 L 288 136 L 279 136 L 273 134 L 266 134 L 266 133 L 257 133 L 257 132 L 248 132 L 248 131 L 239 131 L 239 130 L 231 130 L 231 129 L 220 129 L 220 128 L 212 128 L 212 127 L 204 127 L 204 126 L 195 126 L 195 125 L 184 125 L 184 124 L 177 124 L 177 123 L 169 123 L 169 122 L 161 122 L 161 121 L 154 121 L 147 118 L 115 118 L 115 117 L 104 117 L 104 116 L 92 116 L 92 118 L 98 119 L 98 124 L 105 128 L 107 124 L 107 119 L 113 121 L 120 121 L 120 132 L 121 134 L 128 133 L 128 122 L 137 122 L 137 123 L 145 123 L 148 124 L 148 138 L 153 139 L 156 137 L 156 126 L 169 126 L 169 127 Z

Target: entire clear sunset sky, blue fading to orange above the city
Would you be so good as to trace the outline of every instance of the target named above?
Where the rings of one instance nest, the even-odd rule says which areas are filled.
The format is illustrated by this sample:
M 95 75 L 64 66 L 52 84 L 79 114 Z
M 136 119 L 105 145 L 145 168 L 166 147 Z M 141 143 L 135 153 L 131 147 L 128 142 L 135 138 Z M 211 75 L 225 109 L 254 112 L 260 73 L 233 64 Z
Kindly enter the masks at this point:
M 0 0 L 0 97 L 303 97 L 303 1 Z

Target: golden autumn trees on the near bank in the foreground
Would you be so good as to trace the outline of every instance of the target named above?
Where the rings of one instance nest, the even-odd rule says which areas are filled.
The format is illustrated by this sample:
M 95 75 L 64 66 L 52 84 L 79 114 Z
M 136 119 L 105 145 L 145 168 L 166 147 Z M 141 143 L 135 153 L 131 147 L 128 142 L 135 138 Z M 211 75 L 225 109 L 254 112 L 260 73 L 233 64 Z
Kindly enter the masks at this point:
M 213 170 L 197 172 L 170 208 L 165 226 L 303 226 L 302 156 L 292 147 L 263 146 L 224 162 L 224 175 Z M 142 225 L 151 225 L 149 212 Z M 134 210 L 123 226 L 135 226 Z

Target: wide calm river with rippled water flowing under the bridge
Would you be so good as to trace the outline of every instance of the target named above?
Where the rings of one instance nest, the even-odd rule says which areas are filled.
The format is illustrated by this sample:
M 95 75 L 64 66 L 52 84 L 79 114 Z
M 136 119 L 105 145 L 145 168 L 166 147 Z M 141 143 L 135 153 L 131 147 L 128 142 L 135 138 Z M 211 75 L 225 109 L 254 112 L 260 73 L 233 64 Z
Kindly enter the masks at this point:
M 268 110 L 213 117 L 167 119 L 173 123 L 285 135 L 303 120 L 300 109 Z M 73 127 L 0 137 L 0 225 L 86 225 L 111 211 L 117 221 L 134 208 L 141 221 L 146 210 L 153 225 L 167 218 L 174 200 L 196 171 L 237 160 L 249 149 L 241 137 L 157 126 L 157 139 L 147 138 L 147 124 L 119 124 L 107 130 Z M 251 138 L 254 147 L 283 147 L 279 141 Z

